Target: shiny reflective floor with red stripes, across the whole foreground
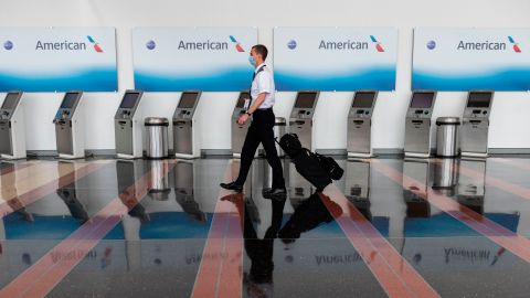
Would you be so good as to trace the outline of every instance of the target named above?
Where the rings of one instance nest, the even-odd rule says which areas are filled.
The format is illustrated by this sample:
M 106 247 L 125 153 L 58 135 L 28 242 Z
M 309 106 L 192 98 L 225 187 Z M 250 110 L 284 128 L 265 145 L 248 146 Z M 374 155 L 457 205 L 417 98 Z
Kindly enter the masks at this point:
M 0 297 L 528 297 L 530 158 L 0 163 Z

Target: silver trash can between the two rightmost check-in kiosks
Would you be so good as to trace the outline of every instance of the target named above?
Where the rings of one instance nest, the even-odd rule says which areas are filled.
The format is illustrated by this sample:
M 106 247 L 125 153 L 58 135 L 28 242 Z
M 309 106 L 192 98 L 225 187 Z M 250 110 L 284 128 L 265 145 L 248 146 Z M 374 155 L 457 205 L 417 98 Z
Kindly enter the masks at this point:
M 436 156 L 458 156 L 458 130 L 460 118 L 439 117 L 436 119 Z

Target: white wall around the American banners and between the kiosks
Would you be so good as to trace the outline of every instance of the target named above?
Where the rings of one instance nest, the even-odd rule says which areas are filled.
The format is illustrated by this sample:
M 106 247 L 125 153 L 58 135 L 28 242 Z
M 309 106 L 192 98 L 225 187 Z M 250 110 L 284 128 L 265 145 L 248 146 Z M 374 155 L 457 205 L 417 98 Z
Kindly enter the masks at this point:
M 375 106 L 373 147 L 403 148 L 404 120 L 410 99 L 413 28 L 529 28 L 528 0 L 374 0 L 374 1 L 243 1 L 243 0 L 47 0 L 3 1 L 0 26 L 115 26 L 117 32 L 118 93 L 85 94 L 86 148 L 115 148 L 114 114 L 123 92 L 134 87 L 131 29 L 136 26 L 256 26 L 258 41 L 272 50 L 275 26 L 393 26 L 399 30 L 396 89 L 380 93 Z M 530 49 L 529 49 L 530 50 Z M 274 60 L 271 54 L 269 64 Z M 28 63 L 31 63 L 29 61 Z M 215 61 L 212 61 L 215 63 Z M 311 63 L 311 57 L 307 57 Z M 346 117 L 352 92 L 326 92 L 316 111 L 317 149 L 346 148 Z M 202 149 L 227 150 L 230 116 L 236 93 L 204 93 L 199 106 Z M 145 116 L 170 118 L 179 93 L 148 93 Z M 28 93 L 28 150 L 55 150 L 53 116 L 62 94 Z M 295 93 L 277 94 L 275 113 L 288 117 Z M 444 92 L 434 117 L 462 116 L 466 93 Z M 489 147 L 530 151 L 530 93 L 495 96 Z M 171 136 L 171 134 L 170 134 Z

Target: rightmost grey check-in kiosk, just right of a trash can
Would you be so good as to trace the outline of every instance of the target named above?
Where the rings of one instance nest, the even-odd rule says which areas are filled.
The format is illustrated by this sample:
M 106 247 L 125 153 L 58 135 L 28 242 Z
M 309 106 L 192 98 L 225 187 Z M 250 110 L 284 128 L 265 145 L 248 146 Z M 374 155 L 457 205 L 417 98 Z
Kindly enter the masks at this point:
M 492 100 L 491 91 L 471 91 L 467 95 L 460 135 L 462 156 L 488 156 L 489 114 Z

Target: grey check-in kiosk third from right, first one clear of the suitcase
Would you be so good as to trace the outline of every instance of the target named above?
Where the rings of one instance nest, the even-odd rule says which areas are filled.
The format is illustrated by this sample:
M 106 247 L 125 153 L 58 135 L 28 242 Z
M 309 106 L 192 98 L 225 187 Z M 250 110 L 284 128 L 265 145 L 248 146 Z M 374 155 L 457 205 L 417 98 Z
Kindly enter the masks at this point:
M 348 114 L 348 157 L 372 157 L 372 114 L 377 91 L 359 91 Z

